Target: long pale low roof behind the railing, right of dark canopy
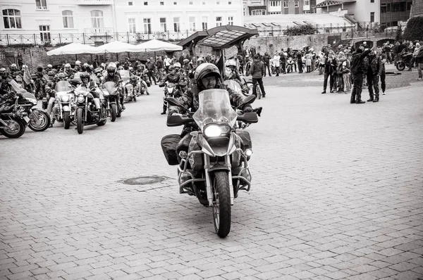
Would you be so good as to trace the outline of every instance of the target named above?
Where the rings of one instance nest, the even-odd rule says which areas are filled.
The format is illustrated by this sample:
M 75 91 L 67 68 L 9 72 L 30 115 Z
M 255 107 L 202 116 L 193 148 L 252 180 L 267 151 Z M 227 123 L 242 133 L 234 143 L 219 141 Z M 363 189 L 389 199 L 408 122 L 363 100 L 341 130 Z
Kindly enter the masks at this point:
M 349 27 L 352 23 L 343 17 L 329 13 L 307 13 L 288 15 L 250 15 L 244 17 L 244 26 L 253 28 L 286 28 L 298 25 L 344 26 Z

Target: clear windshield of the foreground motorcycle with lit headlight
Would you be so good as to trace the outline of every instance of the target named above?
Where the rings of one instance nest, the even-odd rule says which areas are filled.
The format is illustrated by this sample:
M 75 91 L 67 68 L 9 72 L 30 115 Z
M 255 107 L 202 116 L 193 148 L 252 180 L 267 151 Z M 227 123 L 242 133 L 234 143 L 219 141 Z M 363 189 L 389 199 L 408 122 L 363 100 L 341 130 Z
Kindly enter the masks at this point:
M 203 129 L 210 122 L 224 122 L 231 127 L 235 125 L 238 116 L 229 101 L 228 91 L 224 89 L 206 89 L 198 95 L 199 106 L 194 113 L 195 122 Z

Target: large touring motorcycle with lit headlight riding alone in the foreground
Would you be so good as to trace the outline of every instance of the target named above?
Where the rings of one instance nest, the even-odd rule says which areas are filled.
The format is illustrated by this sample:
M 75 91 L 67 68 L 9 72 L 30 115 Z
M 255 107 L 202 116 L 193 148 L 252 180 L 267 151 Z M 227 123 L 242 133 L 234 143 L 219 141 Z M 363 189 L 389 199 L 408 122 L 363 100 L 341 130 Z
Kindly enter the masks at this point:
M 246 97 L 241 105 L 254 99 L 254 96 Z M 223 238 L 231 231 L 234 198 L 240 190 L 250 191 L 252 178 L 248 166 L 252 155 L 250 135 L 235 129 L 235 122 L 258 119 L 256 113 L 238 115 L 231 107 L 228 91 L 223 89 L 204 90 L 199 101 L 193 115 L 185 108 L 188 115 L 169 115 L 166 125 L 175 127 L 194 122 L 192 127 L 197 127 L 197 131 L 191 132 L 188 153 L 180 151 L 180 163 L 176 163 L 179 191 L 196 196 L 202 205 L 212 208 L 214 229 Z M 168 102 L 183 108 L 176 98 L 168 98 Z

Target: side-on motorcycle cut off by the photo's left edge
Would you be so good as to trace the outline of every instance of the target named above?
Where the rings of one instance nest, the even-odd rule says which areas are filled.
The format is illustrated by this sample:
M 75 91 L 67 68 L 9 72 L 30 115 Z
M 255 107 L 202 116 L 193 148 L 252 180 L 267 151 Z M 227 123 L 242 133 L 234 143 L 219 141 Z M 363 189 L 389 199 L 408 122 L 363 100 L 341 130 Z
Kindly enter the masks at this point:
M 8 138 L 19 138 L 25 133 L 25 128 L 30 122 L 25 108 L 18 105 L 22 94 L 17 93 L 15 103 L 10 106 L 0 106 L 0 134 Z

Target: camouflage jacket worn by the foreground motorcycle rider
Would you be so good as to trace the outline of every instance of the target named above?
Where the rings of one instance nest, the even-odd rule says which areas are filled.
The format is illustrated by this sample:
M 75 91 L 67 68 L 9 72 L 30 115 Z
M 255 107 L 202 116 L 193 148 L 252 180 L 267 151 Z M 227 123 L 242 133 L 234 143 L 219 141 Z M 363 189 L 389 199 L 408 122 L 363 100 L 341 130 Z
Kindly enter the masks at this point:
M 244 96 L 241 94 L 237 94 L 235 91 L 229 89 L 226 84 L 218 84 L 216 86 L 217 89 L 226 89 L 229 94 L 229 100 L 231 101 L 232 106 L 239 106 L 240 103 L 243 101 Z M 195 112 L 198 110 L 199 107 L 199 99 L 198 94 L 200 94 L 200 89 L 197 87 L 188 88 L 188 91 L 185 91 L 182 96 L 178 97 L 178 101 L 183 104 L 185 108 L 189 108 L 191 112 Z M 245 108 L 252 108 L 250 104 L 245 104 L 243 110 Z M 171 106 L 168 105 L 168 115 L 172 115 L 173 113 L 183 114 L 185 113 L 183 108 L 178 106 Z

